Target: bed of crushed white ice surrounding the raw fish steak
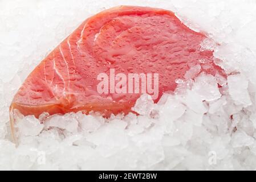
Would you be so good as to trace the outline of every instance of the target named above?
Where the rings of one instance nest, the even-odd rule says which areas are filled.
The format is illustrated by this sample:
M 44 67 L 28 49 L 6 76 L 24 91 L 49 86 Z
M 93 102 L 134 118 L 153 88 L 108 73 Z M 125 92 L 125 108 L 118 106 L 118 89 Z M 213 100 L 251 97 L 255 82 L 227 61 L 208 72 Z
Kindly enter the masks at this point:
M 0 2 L 0 169 L 256 169 L 255 1 L 18 2 Z M 199 74 L 200 60 L 158 104 L 141 96 L 138 116 L 23 117 L 15 148 L 8 107 L 17 85 L 86 17 L 131 3 L 170 9 L 207 32 L 201 47 L 227 79 Z

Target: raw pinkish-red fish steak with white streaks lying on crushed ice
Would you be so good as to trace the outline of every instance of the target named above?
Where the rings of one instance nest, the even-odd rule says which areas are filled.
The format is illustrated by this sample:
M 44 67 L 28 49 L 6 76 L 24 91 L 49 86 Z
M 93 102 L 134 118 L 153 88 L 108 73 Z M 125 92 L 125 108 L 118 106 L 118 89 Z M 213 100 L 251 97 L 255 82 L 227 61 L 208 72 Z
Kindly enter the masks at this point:
M 30 73 L 11 103 L 10 115 L 14 109 L 35 117 L 43 112 L 127 114 L 141 93 L 115 93 L 110 86 L 109 92 L 99 93 L 101 73 L 158 73 L 157 102 L 202 59 L 208 67 L 201 72 L 222 72 L 213 63 L 213 52 L 200 49 L 205 38 L 168 10 L 120 6 L 102 11 L 85 20 Z

